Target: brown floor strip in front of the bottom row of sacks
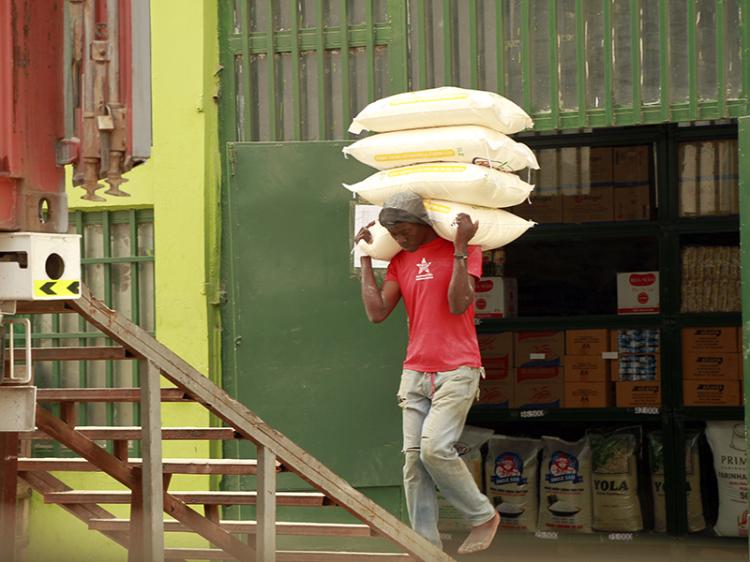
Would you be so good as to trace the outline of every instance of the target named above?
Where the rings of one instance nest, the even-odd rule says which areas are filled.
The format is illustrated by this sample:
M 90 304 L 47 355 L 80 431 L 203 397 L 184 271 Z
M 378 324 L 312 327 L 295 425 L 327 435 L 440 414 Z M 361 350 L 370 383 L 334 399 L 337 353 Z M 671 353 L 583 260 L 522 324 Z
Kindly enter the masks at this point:
M 714 537 L 640 535 L 611 541 L 606 535 L 560 535 L 556 540 L 505 533 L 482 553 L 458 556 L 460 540 L 445 542 L 458 562 L 735 562 L 747 561 L 748 542 Z

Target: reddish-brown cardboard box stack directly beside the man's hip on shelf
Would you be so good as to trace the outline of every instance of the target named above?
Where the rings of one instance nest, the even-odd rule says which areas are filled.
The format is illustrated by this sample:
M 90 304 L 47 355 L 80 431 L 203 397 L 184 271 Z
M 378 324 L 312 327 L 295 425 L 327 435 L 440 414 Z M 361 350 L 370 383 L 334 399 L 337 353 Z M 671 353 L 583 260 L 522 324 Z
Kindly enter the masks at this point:
M 479 403 L 510 408 L 513 401 L 513 333 L 480 334 L 479 352 L 485 379 L 479 385 Z

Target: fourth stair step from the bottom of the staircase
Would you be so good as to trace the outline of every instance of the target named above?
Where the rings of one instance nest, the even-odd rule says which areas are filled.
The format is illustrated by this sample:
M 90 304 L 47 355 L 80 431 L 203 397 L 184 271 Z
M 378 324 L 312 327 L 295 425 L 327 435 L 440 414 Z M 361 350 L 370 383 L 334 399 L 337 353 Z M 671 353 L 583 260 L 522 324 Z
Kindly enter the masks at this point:
M 140 466 L 141 459 L 128 459 L 128 464 Z M 255 474 L 257 461 L 233 459 L 164 459 L 162 461 L 165 474 Z M 18 470 L 28 472 L 99 472 L 101 469 L 86 459 L 58 459 L 19 457 Z M 276 463 L 276 472 L 281 472 L 282 466 Z

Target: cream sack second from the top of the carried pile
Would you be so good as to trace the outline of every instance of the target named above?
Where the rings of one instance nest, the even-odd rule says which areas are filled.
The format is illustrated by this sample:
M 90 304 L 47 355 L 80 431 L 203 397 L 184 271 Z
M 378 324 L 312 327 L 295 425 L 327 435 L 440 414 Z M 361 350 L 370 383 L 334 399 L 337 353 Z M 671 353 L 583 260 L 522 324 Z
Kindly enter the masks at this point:
M 378 170 L 438 161 L 489 165 L 503 172 L 539 169 L 528 146 L 479 125 L 380 133 L 345 146 L 342 152 Z

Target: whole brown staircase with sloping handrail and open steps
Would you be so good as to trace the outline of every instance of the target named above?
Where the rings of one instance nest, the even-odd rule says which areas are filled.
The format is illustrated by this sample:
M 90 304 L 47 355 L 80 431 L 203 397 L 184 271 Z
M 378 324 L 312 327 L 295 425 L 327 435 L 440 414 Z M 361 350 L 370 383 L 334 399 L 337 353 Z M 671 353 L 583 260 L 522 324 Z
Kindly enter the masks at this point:
M 6 434 L 0 443 L 0 472 L 18 477 L 44 497 L 128 550 L 129 560 L 256 560 L 273 561 L 450 561 L 408 526 L 355 490 L 319 461 L 269 427 L 253 412 L 218 388 L 201 373 L 160 344 L 150 334 L 106 307 L 82 288 L 79 300 L 19 302 L 19 313 L 79 314 L 118 345 L 95 348 L 39 348 L 32 359 L 87 360 L 137 359 L 142 362 L 141 388 L 39 389 L 37 430 Z M 175 388 L 160 388 L 161 376 Z M 88 402 L 140 402 L 142 427 L 77 426 L 78 405 Z M 198 403 L 222 420 L 224 427 L 162 428 L 162 402 Z M 50 413 L 60 405 L 60 416 Z M 0 434 L 2 435 L 2 434 Z M 18 443 L 55 439 L 74 451 L 76 458 L 15 456 Z M 164 459 L 162 440 L 246 439 L 255 444 L 256 459 Z M 143 458 L 129 458 L 129 444 L 140 440 Z M 102 446 L 112 443 L 112 452 Z M 28 447 L 26 447 L 28 449 Z M 59 471 L 100 471 L 125 490 L 72 490 L 52 475 Z M 291 472 L 316 492 L 277 492 L 276 477 Z M 254 475 L 255 490 L 241 492 L 180 492 L 170 489 L 174 474 Z M 15 480 L 15 479 L 13 479 Z M 7 484 L 7 482 L 6 482 Z M 15 482 L 13 482 L 15 486 Z M 3 487 L 6 487 L 5 485 Z M 129 504 L 130 518 L 115 516 L 102 507 Z M 222 519 L 222 507 L 254 505 L 251 521 Z M 202 506 L 201 511 L 195 509 Z M 360 524 L 279 521 L 277 507 L 343 509 Z M 165 520 L 164 514 L 169 517 Z M 311 519 L 320 520 L 316 517 Z M 165 532 L 192 532 L 207 548 L 165 548 Z M 349 544 L 367 538 L 365 550 L 280 550 L 277 536 L 333 537 Z M 370 542 L 372 541 L 372 542 Z M 377 543 L 390 543 L 389 547 Z M 361 544 L 361 542 L 358 542 Z M 394 550 L 395 547 L 395 551 Z

